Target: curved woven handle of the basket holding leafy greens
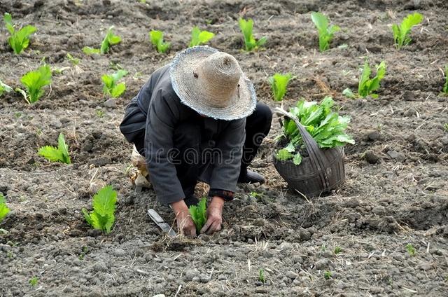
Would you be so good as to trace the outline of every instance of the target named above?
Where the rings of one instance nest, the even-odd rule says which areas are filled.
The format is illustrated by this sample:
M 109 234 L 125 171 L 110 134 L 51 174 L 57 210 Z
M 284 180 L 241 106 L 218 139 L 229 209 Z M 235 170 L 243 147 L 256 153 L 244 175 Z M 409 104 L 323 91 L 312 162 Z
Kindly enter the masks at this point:
M 328 188 L 330 186 L 330 181 L 328 181 L 328 174 L 326 174 L 325 168 L 330 166 L 330 162 L 328 161 L 327 156 L 325 156 L 325 153 L 323 153 L 322 149 L 319 148 L 316 140 L 314 140 L 311 134 L 309 134 L 307 129 L 302 125 L 302 123 L 300 123 L 300 120 L 297 116 L 293 115 L 293 113 L 279 107 L 276 107 L 274 111 L 281 116 L 290 118 L 294 121 L 295 125 L 297 125 L 300 135 L 302 135 L 305 148 L 307 149 L 309 159 L 311 160 L 311 165 L 313 165 L 318 171 L 323 186 Z

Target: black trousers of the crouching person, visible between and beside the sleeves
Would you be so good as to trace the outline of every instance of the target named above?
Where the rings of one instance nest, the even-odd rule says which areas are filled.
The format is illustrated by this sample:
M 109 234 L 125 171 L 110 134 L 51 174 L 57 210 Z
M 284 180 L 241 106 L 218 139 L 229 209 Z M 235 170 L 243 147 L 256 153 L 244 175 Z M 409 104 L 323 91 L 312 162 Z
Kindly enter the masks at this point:
M 241 158 L 240 176 L 244 177 L 246 175 L 248 165 L 255 158 L 262 140 L 265 139 L 271 129 L 271 122 L 272 111 L 269 109 L 269 106 L 258 102 L 255 111 L 246 118 L 246 140 L 244 141 L 243 156 Z M 183 124 L 174 130 L 174 146 L 179 149 L 179 156 L 186 156 L 184 153 L 186 150 L 200 151 L 201 135 L 198 131 L 200 131 L 200 125 L 193 123 Z M 144 155 L 144 131 L 141 137 L 137 137 L 134 141 L 134 145 L 137 151 Z M 192 165 L 191 162 L 179 160 L 179 162 L 176 162 L 176 172 L 186 196 L 193 195 L 197 180 L 202 173 L 202 166 Z

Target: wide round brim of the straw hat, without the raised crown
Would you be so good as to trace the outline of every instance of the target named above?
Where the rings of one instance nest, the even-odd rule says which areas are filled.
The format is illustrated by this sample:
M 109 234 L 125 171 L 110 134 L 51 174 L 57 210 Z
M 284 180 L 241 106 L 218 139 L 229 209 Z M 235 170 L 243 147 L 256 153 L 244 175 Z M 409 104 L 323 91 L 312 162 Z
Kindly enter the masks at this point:
M 193 77 L 193 70 L 197 64 L 216 52 L 218 50 L 215 48 L 195 46 L 178 53 L 170 67 L 173 90 L 183 104 L 209 118 L 219 120 L 245 118 L 253 113 L 257 97 L 253 84 L 244 74 L 239 79 L 238 90 L 225 107 L 213 106 L 209 99 L 212 95 L 207 92 L 207 87 L 201 85 L 201 80 Z

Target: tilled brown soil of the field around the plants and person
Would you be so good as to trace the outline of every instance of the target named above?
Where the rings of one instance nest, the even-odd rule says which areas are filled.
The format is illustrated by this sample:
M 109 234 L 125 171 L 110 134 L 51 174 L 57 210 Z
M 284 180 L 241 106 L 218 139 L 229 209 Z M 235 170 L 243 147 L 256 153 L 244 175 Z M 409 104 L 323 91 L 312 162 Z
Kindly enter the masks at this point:
M 11 209 L 0 224 L 0 296 L 448 296 L 448 97 L 440 95 L 447 1 L 0 1 L 6 11 L 38 31 L 15 55 L 2 22 L 1 81 L 18 88 L 44 61 L 55 71 L 36 104 L 15 92 L 0 98 L 0 191 Z M 311 11 L 342 28 L 325 53 Z M 391 25 L 414 12 L 424 20 L 397 50 Z M 265 48 L 241 50 L 241 16 L 253 18 L 255 37 L 267 36 Z M 123 41 L 106 55 L 83 54 L 111 25 Z M 118 125 L 152 71 L 188 46 L 195 25 L 216 33 L 210 46 L 235 55 L 260 102 L 279 106 L 267 78 L 290 72 L 286 106 L 331 95 L 351 116 L 356 144 L 345 148 L 337 191 L 312 199 L 288 191 L 272 165 L 274 116 L 252 166 L 267 183 L 238 187 L 221 232 L 173 240 L 149 219 L 148 208 L 168 223 L 174 215 L 153 190 L 134 191 L 132 145 Z M 169 53 L 155 52 L 151 29 L 165 32 Z M 80 59 L 76 67 L 67 53 Z M 346 99 L 342 90 L 357 89 L 366 57 L 387 64 L 379 98 Z M 130 72 L 127 90 L 105 104 L 101 76 L 117 67 Z M 36 154 L 60 132 L 71 165 Z M 80 212 L 106 184 L 118 191 L 109 235 Z

